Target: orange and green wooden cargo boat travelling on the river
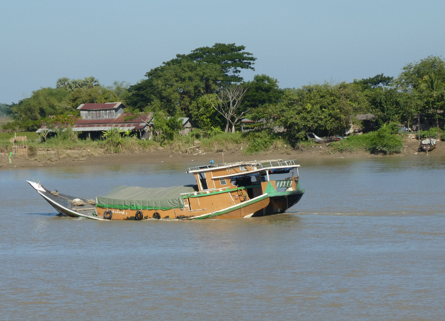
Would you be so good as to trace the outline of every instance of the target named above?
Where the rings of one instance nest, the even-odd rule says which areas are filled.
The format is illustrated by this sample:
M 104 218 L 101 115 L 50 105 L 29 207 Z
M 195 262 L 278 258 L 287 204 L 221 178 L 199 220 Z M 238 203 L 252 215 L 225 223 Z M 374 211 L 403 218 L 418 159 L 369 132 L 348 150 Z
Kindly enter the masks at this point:
M 213 162 L 213 161 L 212 161 Z M 256 217 L 283 213 L 303 196 L 295 160 L 223 163 L 189 168 L 196 185 L 144 188 L 116 185 L 96 200 L 50 191 L 27 181 L 57 212 L 93 220 Z M 297 170 L 297 176 L 271 180 L 273 174 Z

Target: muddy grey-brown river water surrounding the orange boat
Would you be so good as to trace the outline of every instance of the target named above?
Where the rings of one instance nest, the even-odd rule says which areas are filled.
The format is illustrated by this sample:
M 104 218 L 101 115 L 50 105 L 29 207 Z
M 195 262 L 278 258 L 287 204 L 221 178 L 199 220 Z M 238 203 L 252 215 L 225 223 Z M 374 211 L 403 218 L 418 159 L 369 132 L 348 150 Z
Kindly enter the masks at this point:
M 195 164 L 1 170 L 0 320 L 443 320 L 445 160 L 300 164 L 289 213 L 202 221 L 60 217 L 25 182 L 90 198 Z

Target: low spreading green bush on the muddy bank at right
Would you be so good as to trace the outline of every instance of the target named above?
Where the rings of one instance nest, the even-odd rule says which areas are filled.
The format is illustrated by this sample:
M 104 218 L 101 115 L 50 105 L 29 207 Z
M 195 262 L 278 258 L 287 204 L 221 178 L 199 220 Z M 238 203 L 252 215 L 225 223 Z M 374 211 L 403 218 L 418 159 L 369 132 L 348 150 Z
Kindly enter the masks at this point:
M 353 152 L 365 150 L 368 152 L 383 152 L 384 154 L 399 153 L 403 148 L 403 140 L 400 135 L 396 135 L 394 126 L 384 126 L 375 132 L 363 135 L 354 135 L 332 143 L 330 152 Z M 397 127 L 398 128 L 398 127 Z M 398 130 L 398 129 L 397 129 Z

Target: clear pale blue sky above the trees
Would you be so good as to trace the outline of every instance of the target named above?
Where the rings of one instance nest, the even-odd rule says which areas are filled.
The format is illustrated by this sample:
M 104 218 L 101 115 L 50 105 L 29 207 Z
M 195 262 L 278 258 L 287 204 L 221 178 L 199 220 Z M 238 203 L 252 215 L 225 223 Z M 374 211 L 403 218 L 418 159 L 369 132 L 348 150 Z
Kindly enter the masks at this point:
M 352 81 L 445 49 L 445 1 L 1 1 L 0 102 L 57 78 L 131 84 L 177 53 L 215 42 L 258 58 L 246 80 L 280 87 Z

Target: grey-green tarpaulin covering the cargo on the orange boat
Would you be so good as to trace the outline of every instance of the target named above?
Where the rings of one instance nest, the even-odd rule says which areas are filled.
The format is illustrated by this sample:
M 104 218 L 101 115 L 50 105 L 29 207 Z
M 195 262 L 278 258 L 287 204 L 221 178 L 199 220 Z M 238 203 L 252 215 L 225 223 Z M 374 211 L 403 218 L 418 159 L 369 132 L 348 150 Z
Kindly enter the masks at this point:
M 184 207 L 184 198 L 179 195 L 181 193 L 194 193 L 194 188 L 116 185 L 107 195 L 96 197 L 96 204 L 101 208 L 110 209 L 177 209 Z

